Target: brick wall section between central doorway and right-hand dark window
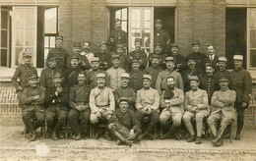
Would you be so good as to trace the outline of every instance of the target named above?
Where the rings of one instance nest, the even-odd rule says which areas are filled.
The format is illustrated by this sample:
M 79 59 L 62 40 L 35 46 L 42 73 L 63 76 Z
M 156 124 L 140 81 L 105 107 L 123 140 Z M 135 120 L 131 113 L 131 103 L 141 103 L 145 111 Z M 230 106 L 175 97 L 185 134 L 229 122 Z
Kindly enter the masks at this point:
M 179 0 L 177 6 L 177 42 L 183 55 L 191 52 L 191 42 L 199 40 L 206 53 L 214 45 L 217 54 L 225 54 L 225 1 Z

